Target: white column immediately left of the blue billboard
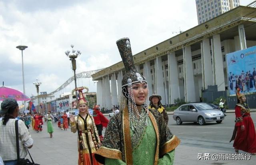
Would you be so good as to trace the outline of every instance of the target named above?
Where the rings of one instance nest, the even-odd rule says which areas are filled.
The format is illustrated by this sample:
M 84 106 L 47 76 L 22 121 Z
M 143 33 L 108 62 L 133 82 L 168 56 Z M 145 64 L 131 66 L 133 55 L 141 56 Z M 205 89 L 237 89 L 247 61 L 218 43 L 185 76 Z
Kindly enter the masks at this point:
M 218 86 L 218 91 L 225 91 L 223 57 L 221 52 L 220 34 L 212 36 L 212 70 L 213 83 Z

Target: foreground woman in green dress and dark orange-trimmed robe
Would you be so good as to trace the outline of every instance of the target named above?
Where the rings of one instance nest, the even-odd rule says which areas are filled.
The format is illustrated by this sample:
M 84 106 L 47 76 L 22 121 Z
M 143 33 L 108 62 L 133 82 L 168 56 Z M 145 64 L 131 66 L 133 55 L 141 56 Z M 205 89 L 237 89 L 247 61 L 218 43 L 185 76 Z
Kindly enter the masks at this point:
M 129 38 L 116 42 L 126 73 L 124 108 L 111 117 L 95 158 L 105 165 L 172 165 L 180 143 L 159 111 L 148 109 L 146 79 L 135 69 Z

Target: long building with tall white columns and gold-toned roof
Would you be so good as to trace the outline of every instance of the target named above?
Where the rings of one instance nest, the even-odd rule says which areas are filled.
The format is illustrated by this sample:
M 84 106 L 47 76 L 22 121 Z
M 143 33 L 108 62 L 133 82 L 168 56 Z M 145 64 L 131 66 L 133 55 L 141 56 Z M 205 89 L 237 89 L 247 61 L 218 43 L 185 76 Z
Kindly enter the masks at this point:
M 225 56 L 256 45 L 255 17 L 255 8 L 238 6 L 135 54 L 134 64 L 148 82 L 149 95 L 156 92 L 163 105 L 170 105 L 177 98 L 200 101 L 208 85 L 228 90 Z M 92 75 L 98 81 L 97 104 L 121 104 L 124 72 L 121 61 Z

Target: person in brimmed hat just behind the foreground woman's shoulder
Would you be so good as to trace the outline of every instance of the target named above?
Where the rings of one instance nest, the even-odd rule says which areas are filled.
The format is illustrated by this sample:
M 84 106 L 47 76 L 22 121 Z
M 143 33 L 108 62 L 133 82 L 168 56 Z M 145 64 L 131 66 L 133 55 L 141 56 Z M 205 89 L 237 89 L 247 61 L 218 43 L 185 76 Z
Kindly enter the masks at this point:
M 160 95 L 153 93 L 153 95 L 149 97 L 150 103 L 149 103 L 148 108 L 158 110 L 163 115 L 166 125 L 168 125 L 169 117 L 161 103 L 161 99 L 162 99 L 162 97 Z

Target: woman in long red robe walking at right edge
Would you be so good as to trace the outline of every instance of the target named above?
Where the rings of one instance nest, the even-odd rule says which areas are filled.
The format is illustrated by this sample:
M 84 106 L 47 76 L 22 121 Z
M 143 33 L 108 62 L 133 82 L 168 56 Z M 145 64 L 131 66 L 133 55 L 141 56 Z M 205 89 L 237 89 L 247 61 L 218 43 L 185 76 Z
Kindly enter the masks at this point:
M 237 89 L 236 96 L 238 103 L 235 107 L 236 124 L 233 132 L 232 140 L 234 140 L 233 147 L 236 153 L 239 150 L 256 154 L 256 132 L 254 123 L 250 116 L 250 108 L 246 102 L 246 96 L 244 93 L 240 93 L 240 89 Z

